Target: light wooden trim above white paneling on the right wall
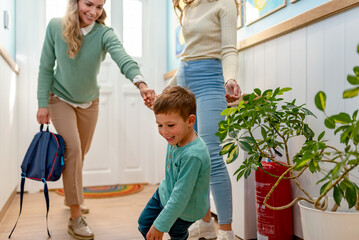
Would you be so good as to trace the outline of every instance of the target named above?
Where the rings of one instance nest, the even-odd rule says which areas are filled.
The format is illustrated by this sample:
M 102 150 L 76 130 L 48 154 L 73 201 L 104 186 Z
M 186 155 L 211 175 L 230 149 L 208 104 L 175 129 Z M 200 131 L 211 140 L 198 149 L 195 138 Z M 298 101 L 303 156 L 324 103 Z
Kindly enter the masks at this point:
M 254 36 L 239 41 L 237 49 L 242 51 L 356 6 L 359 6 L 359 0 L 331 0 Z

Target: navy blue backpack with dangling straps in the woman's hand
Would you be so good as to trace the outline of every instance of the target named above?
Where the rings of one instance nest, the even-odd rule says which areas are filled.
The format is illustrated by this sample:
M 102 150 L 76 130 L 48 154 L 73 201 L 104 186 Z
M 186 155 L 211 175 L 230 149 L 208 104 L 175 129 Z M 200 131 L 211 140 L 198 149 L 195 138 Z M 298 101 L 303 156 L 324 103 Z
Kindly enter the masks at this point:
M 48 214 L 49 214 L 49 193 L 47 188 L 47 181 L 57 181 L 61 177 L 64 168 L 65 142 L 63 138 L 55 133 L 49 131 L 47 125 L 46 131 L 43 131 L 43 125 L 40 126 L 38 132 L 25 155 L 21 164 L 21 192 L 20 192 L 20 212 L 12 229 L 9 238 L 15 230 L 17 222 L 19 221 L 22 202 L 24 196 L 25 178 L 42 181 L 44 183 L 44 195 L 46 199 L 46 226 L 47 234 L 51 237 L 48 228 Z

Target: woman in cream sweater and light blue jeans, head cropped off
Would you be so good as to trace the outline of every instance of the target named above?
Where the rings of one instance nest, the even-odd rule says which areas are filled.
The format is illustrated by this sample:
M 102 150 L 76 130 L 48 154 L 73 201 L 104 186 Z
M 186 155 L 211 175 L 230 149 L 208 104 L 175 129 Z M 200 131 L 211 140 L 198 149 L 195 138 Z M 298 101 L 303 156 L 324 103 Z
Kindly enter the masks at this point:
M 211 156 L 211 192 L 217 209 L 217 239 L 234 239 L 232 232 L 232 188 L 226 165 L 219 155 L 220 141 L 214 134 L 220 113 L 241 95 L 237 83 L 238 52 L 235 0 L 172 0 L 180 12 L 185 49 L 176 76 L 169 85 L 188 87 L 197 100 L 197 131 Z M 193 224 L 190 237 L 216 237 L 211 212 Z

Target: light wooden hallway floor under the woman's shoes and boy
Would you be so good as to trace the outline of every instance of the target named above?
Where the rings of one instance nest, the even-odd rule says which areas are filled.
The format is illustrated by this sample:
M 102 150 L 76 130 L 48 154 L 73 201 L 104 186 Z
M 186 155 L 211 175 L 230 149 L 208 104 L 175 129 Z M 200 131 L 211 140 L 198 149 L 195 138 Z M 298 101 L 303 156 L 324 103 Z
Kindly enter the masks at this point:
M 117 198 L 86 199 L 90 208 L 86 220 L 95 233 L 96 240 L 141 240 L 137 230 L 137 218 L 157 185 L 145 185 L 136 194 Z M 64 198 L 50 192 L 49 229 L 54 240 L 73 239 L 67 233 L 69 209 L 64 206 Z M 0 223 L 0 239 L 8 239 L 8 235 L 19 214 L 20 196 L 16 199 Z M 11 239 L 13 240 L 45 240 L 46 204 L 43 193 L 25 194 L 23 209 L 18 225 Z M 164 239 L 169 239 L 165 235 Z

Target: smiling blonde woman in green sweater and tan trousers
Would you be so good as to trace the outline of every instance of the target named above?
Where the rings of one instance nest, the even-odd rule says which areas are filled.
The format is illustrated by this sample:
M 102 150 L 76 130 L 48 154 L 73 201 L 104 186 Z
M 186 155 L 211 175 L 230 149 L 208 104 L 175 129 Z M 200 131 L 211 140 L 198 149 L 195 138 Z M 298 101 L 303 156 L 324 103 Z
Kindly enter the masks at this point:
M 82 166 L 97 123 L 96 78 L 106 53 L 139 88 L 146 105 L 155 97 L 137 63 L 127 55 L 113 29 L 105 26 L 104 4 L 105 0 L 69 0 L 66 15 L 52 19 L 47 27 L 38 76 L 37 121 L 45 124 L 51 119 L 66 144 L 63 184 L 71 212 L 68 232 L 76 239 L 94 238 L 81 214 Z

